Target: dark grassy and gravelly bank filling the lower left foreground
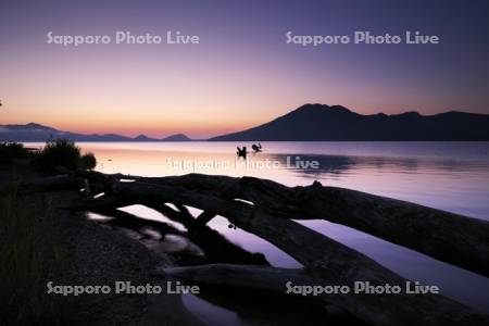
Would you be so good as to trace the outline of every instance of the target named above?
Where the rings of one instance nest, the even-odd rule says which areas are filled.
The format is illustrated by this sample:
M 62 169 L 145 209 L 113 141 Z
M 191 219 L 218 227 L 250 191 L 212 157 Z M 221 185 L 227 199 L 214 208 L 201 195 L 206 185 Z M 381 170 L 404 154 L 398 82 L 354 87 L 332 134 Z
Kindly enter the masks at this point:
M 28 165 L 1 167 L 2 186 L 37 177 Z M 110 227 L 63 209 L 79 200 L 76 191 L 3 193 L 0 322 L 4 325 L 199 325 L 178 296 L 53 296 L 53 285 L 165 285 L 159 268 L 174 266 Z M 13 221 L 16 218 L 16 221 Z

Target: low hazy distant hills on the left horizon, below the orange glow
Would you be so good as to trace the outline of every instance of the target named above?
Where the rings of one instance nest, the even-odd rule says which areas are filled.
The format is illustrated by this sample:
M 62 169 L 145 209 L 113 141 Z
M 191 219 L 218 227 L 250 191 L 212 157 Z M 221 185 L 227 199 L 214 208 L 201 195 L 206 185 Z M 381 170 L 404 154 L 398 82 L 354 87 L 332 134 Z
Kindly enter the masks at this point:
M 189 141 L 183 134 L 173 135 L 163 139 L 150 138 L 139 135 L 135 138 L 116 134 L 75 134 L 62 131 L 40 124 L 0 125 L 0 141 L 46 141 L 50 138 L 67 138 L 74 141 Z M 170 139 L 170 140 L 168 140 Z M 180 139 L 180 140 L 177 140 Z

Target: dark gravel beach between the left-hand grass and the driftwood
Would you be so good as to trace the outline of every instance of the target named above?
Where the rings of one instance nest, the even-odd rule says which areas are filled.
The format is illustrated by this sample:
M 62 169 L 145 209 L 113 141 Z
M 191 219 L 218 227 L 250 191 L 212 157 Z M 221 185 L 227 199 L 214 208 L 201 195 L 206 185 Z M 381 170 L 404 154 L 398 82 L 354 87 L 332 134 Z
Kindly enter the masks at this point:
M 28 180 L 37 177 L 28 166 L 16 170 L 0 166 L 0 187 L 12 180 Z M 63 261 L 61 271 L 54 271 L 52 286 L 103 286 L 114 289 L 116 281 L 131 285 L 161 286 L 166 288 L 171 278 L 161 269 L 175 266 L 172 254 L 148 249 L 142 242 L 121 231 L 87 218 L 85 213 L 65 210 L 67 203 L 83 199 L 77 191 L 53 191 L 37 193 L 52 211 L 55 239 Z M 26 198 L 29 202 L 29 198 Z M 63 324 L 73 325 L 202 325 L 183 304 L 180 294 L 82 294 L 59 296 L 70 300 L 70 313 Z M 25 298 L 28 300 L 28 298 Z M 66 315 L 66 312 L 60 314 Z

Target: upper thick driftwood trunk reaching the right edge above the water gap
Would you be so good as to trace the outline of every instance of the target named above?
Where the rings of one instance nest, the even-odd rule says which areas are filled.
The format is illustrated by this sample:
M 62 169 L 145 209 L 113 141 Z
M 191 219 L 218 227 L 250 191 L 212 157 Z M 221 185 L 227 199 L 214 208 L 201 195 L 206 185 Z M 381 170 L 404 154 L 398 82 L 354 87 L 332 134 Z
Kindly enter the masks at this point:
M 188 174 L 133 178 L 218 198 L 242 199 L 293 220 L 326 220 L 489 277 L 489 222 L 351 189 L 286 187 L 253 177 Z

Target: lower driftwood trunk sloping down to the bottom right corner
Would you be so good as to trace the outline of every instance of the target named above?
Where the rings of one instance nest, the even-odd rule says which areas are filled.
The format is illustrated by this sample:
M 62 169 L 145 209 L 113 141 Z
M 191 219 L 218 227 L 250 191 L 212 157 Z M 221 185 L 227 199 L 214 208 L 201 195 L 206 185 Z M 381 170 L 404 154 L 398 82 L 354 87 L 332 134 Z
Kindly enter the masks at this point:
M 312 277 L 353 287 L 355 281 L 373 286 L 398 285 L 406 280 L 364 254 L 327 238 L 293 221 L 266 214 L 253 205 L 222 200 L 197 191 L 146 183 L 121 183 L 115 195 L 145 197 L 155 202 L 172 202 L 209 210 L 226 216 L 238 227 L 277 246 L 302 263 Z M 341 306 L 352 315 L 376 325 L 482 325 L 484 317 L 437 294 L 341 296 Z

